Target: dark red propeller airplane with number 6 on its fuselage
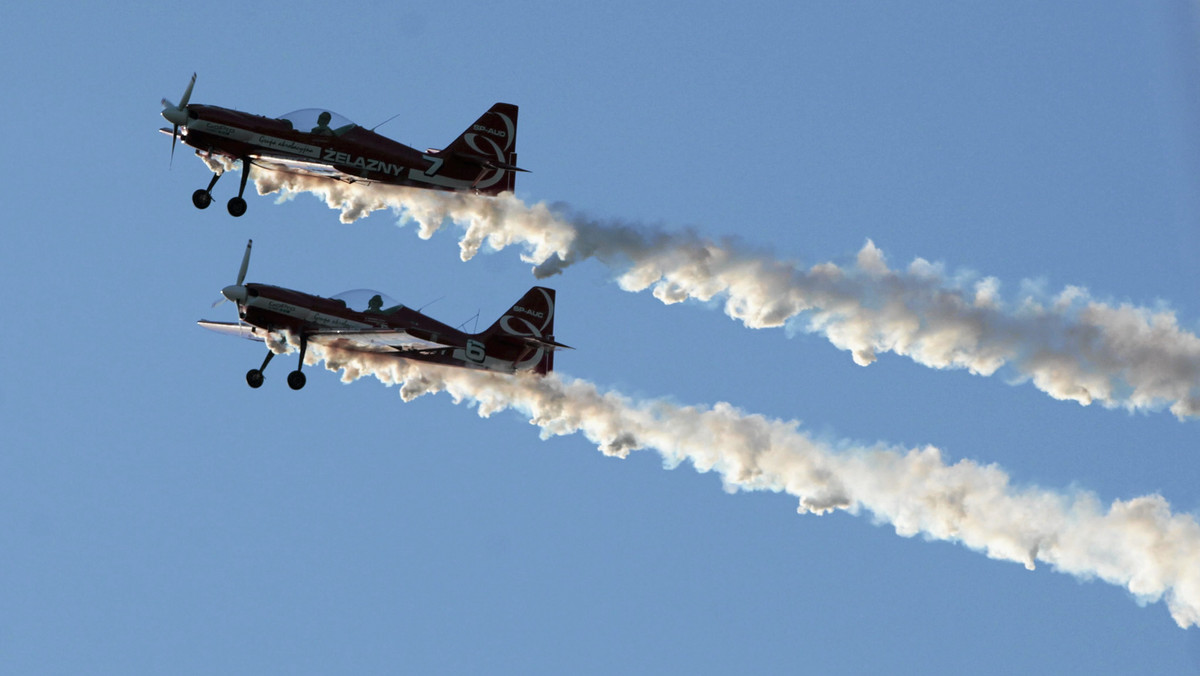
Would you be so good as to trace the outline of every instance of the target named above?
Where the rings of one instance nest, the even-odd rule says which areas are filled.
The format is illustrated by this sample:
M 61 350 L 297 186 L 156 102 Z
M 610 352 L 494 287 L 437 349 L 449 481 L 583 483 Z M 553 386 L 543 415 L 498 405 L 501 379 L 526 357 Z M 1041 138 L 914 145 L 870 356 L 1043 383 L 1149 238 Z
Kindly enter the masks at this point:
M 414 361 L 467 369 L 544 376 L 554 369 L 554 352 L 572 349 L 554 341 L 554 289 L 533 287 L 491 327 L 468 334 L 396 304 L 382 293 L 358 289 L 322 298 L 283 287 L 244 283 L 253 240 L 238 270 L 238 281 L 221 289 L 223 300 L 238 306 L 239 322 L 200 319 L 200 327 L 217 333 L 265 342 L 271 334 L 287 334 L 300 342 L 300 363 L 288 373 L 288 385 L 298 390 L 306 377 L 300 371 L 310 342 Z M 263 365 L 246 372 L 252 388 L 263 384 Z

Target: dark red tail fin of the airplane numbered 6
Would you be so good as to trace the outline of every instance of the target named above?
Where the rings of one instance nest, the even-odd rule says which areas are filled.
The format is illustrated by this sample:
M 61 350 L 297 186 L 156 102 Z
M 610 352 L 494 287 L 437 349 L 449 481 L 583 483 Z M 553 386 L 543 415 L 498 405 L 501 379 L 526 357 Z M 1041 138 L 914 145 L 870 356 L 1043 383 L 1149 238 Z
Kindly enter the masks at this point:
M 533 287 L 486 331 L 479 334 L 488 355 L 512 363 L 514 371 L 545 376 L 554 370 L 554 289 Z

